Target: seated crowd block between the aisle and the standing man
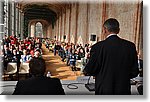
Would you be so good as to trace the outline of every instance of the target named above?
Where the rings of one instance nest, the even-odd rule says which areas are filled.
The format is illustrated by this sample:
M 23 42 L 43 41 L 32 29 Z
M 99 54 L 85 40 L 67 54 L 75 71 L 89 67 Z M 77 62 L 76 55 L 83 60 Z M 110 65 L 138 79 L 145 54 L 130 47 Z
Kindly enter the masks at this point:
M 49 51 L 58 54 L 66 65 L 71 66 L 73 71 L 77 71 L 77 67 L 84 68 L 90 57 L 90 44 L 73 44 L 46 39 L 46 47 Z M 80 66 L 78 64 L 80 63 Z

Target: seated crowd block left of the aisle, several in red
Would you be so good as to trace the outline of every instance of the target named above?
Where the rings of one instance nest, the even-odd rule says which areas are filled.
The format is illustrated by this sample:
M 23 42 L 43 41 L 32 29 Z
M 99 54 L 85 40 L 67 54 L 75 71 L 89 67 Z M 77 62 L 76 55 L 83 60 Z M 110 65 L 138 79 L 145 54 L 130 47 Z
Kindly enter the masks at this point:
M 42 57 L 42 43 L 40 38 L 20 39 L 16 36 L 6 36 L 3 39 L 4 72 L 7 70 L 8 63 L 29 63 L 34 57 Z

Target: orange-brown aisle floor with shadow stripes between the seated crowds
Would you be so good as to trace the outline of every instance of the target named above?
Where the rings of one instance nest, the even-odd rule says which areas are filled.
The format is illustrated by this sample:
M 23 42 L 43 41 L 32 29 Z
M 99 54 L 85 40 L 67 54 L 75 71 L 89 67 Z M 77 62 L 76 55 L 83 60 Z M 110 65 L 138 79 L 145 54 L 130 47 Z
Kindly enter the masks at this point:
M 80 71 L 72 71 L 65 62 L 61 61 L 59 56 L 54 56 L 52 52 L 43 45 L 43 59 L 46 61 L 46 71 L 50 71 L 52 77 L 57 77 L 61 80 L 76 80 L 80 75 Z

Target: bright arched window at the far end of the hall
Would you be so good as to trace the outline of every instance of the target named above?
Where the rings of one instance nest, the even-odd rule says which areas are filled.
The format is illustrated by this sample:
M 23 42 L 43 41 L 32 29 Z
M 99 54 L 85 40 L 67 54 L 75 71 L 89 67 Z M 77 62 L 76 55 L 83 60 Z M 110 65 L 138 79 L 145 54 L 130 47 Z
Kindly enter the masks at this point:
M 40 22 L 37 22 L 35 26 L 36 26 L 36 28 L 35 28 L 36 37 L 43 37 L 42 24 Z

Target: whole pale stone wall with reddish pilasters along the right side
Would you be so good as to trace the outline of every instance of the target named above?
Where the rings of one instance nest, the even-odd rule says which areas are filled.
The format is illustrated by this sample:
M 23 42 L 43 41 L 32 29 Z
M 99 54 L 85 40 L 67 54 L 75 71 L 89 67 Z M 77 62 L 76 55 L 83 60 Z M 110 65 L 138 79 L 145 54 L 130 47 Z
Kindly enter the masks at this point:
M 90 35 L 97 35 L 98 41 L 103 40 L 102 25 L 108 18 L 116 18 L 120 22 L 121 38 L 136 44 L 137 50 L 142 49 L 142 13 L 141 2 L 100 2 L 66 4 L 65 11 L 58 15 L 54 31 L 58 40 L 70 43 L 89 43 Z

